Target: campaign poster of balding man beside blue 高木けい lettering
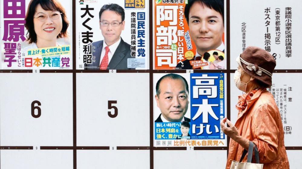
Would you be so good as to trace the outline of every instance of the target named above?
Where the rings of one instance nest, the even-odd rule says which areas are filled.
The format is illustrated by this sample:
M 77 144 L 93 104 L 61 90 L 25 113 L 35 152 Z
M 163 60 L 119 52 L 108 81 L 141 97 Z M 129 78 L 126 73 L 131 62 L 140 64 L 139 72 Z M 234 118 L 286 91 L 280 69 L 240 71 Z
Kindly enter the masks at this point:
M 223 73 L 154 74 L 154 146 L 227 146 Z

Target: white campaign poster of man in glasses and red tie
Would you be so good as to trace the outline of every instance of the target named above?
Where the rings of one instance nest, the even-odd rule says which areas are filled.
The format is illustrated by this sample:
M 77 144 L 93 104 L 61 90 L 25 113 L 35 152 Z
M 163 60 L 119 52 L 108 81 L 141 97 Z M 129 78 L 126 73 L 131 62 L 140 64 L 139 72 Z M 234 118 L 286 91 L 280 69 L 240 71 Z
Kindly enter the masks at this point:
M 148 0 L 76 2 L 76 69 L 148 69 L 148 4 Z

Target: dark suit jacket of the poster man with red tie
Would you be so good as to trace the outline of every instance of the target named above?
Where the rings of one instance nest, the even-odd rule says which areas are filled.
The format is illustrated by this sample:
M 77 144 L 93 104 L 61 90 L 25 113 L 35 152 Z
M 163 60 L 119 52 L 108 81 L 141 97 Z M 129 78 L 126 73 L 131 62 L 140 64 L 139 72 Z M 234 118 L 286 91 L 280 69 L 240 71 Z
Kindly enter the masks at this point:
M 85 64 L 85 69 L 99 69 L 102 48 L 103 40 L 92 43 L 92 55 L 96 57 L 95 62 L 92 62 L 92 64 Z M 132 58 L 130 52 L 130 45 L 121 38 L 121 42 L 116 48 L 107 69 L 131 69 L 127 67 L 127 59 Z

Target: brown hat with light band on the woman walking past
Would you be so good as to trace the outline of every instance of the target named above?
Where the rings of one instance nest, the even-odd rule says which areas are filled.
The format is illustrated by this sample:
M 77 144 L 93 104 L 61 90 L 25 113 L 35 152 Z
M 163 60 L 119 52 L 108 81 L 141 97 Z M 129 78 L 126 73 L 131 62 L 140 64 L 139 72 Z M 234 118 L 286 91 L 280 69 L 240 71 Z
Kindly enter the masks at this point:
M 272 85 L 271 76 L 276 61 L 270 53 L 256 46 L 248 46 L 236 61 L 247 74 L 265 84 Z

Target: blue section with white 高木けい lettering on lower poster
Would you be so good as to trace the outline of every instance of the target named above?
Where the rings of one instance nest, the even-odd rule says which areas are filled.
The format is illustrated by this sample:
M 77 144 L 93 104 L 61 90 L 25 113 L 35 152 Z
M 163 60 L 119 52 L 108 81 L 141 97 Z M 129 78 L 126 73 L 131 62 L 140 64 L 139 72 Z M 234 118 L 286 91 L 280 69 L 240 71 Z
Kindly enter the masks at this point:
M 225 117 L 224 74 L 191 74 L 190 89 L 191 139 L 224 139 L 220 129 Z

